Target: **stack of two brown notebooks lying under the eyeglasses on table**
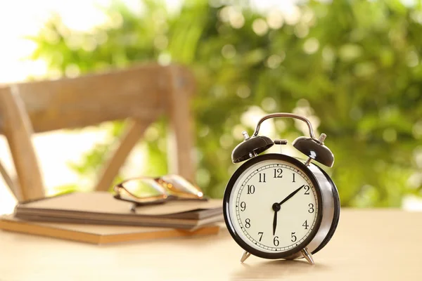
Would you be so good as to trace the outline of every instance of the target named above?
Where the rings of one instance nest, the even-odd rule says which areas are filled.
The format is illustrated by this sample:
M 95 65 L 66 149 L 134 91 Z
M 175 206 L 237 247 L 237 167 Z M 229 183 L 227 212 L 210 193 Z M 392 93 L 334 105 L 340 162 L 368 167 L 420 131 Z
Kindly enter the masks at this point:
M 222 202 L 170 201 L 136 207 L 108 192 L 75 192 L 23 202 L 0 217 L 0 229 L 107 244 L 219 232 Z

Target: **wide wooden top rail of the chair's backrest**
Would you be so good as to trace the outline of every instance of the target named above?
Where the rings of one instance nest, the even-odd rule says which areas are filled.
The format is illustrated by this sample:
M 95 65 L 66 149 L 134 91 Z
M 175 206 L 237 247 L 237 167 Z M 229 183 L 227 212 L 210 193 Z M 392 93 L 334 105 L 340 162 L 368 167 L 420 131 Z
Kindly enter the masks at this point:
M 34 132 L 44 132 L 127 117 L 156 119 L 164 110 L 169 81 L 167 67 L 148 65 L 15 86 Z

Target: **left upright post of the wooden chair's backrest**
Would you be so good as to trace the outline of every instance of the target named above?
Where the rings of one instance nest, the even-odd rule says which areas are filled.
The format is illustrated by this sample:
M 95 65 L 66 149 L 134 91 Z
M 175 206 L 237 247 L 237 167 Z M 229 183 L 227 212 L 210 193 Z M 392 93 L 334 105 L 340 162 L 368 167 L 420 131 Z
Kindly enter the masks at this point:
M 32 125 L 17 86 L 0 89 L 0 117 L 0 131 L 7 138 L 18 174 L 21 194 L 18 201 L 44 197 L 41 171 L 31 141 Z

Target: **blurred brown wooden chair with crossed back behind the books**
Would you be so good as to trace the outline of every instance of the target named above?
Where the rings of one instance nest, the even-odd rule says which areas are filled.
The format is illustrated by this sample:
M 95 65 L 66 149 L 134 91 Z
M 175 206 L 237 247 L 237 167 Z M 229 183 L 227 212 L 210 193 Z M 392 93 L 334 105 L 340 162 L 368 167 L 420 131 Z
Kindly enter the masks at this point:
M 192 180 L 193 119 L 189 100 L 193 91 L 193 76 L 179 65 L 144 65 L 75 79 L 0 86 L 0 133 L 10 146 L 18 183 L 1 163 L 0 174 L 19 201 L 44 197 L 32 133 L 127 119 L 120 146 L 111 153 L 95 187 L 108 190 L 146 128 L 167 115 L 172 145 L 170 171 Z

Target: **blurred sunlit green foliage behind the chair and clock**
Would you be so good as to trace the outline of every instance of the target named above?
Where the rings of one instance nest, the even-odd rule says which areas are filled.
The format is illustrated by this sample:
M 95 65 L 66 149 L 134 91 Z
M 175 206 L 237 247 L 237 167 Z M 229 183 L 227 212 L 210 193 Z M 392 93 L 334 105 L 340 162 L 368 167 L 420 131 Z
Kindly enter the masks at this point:
M 196 75 L 193 100 L 196 180 L 222 197 L 237 165 L 231 150 L 269 112 L 311 119 L 335 155 L 327 169 L 343 206 L 402 205 L 422 195 L 422 9 L 401 1 L 301 1 L 290 11 L 260 12 L 248 2 L 186 0 L 169 11 L 143 1 L 136 13 L 114 1 L 109 24 L 69 30 L 59 16 L 39 36 L 34 59 L 51 77 L 128 67 L 181 63 Z M 255 122 L 254 122 L 255 121 Z M 269 122 L 271 138 L 291 142 L 306 131 L 289 120 Z M 167 172 L 166 120 L 147 133 L 147 175 Z M 96 174 L 121 132 L 84 155 L 72 169 Z M 288 150 L 290 153 L 290 150 Z

